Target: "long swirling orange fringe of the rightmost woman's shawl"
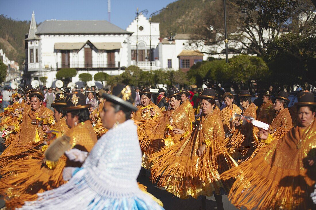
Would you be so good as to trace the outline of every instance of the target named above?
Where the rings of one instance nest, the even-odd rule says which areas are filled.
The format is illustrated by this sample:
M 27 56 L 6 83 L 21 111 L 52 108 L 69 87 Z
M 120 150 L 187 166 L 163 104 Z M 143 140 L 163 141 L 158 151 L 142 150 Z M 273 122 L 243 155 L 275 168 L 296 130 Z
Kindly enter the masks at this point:
M 287 176 L 278 181 L 283 173 L 293 174 L 293 170 L 271 167 L 262 160 L 263 157 L 256 157 L 221 174 L 224 180 L 237 179 L 229 191 L 231 203 L 247 209 L 310 209 L 309 204 L 303 202 L 308 199 L 304 199 L 308 196 L 306 189 L 301 189 L 307 186 L 304 177 Z M 274 171 L 273 177 L 263 175 L 271 171 Z

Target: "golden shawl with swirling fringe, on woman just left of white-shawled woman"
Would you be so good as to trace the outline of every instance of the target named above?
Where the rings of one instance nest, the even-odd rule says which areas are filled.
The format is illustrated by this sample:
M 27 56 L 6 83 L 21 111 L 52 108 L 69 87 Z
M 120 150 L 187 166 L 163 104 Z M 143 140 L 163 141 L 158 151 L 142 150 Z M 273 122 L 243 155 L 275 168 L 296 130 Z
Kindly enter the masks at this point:
M 73 148 L 90 152 L 97 141 L 90 121 L 79 123 L 71 129 L 65 122 L 65 120 L 58 121 L 57 127 L 68 130 L 63 133 L 71 137 Z M 56 167 L 49 169 L 44 163 L 41 163 L 44 160 L 43 154 L 44 152 L 41 150 L 31 149 L 19 161 L 10 164 L 11 167 L 8 167 L 5 173 L 6 177 L 0 180 L 0 184 L 3 183 L 0 195 L 4 193 L 11 195 L 7 199 L 7 207 L 21 207 L 25 201 L 37 199 L 37 193 L 51 190 L 65 183 L 62 178 L 64 167 L 81 166 L 80 162 L 71 162 L 63 155 L 58 160 Z M 12 168 L 14 174 L 12 174 Z

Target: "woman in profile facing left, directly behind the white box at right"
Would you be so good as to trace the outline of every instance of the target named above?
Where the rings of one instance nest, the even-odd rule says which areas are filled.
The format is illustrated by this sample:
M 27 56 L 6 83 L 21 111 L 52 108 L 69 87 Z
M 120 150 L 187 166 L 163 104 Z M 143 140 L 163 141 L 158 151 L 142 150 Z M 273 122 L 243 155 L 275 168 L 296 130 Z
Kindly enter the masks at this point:
M 272 124 L 268 130 L 273 139 L 276 141 L 282 138 L 292 127 L 292 119 L 288 109 L 289 93 L 280 91 L 276 96 L 276 101 L 273 104 L 274 110 L 277 112 L 272 120 Z M 255 141 L 254 147 L 256 148 L 250 158 L 253 158 L 258 151 L 266 144 L 263 141 Z

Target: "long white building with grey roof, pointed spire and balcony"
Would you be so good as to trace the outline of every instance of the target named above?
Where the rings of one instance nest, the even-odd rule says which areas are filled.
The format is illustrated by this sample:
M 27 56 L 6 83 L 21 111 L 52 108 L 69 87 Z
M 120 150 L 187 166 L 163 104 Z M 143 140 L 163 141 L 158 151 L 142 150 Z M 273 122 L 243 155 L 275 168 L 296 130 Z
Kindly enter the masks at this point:
M 61 68 L 77 70 L 75 83 L 80 73 L 119 75 L 131 65 L 131 34 L 106 20 L 45 20 L 36 27 L 33 13 L 24 80 L 46 76 L 46 85 L 54 86 Z

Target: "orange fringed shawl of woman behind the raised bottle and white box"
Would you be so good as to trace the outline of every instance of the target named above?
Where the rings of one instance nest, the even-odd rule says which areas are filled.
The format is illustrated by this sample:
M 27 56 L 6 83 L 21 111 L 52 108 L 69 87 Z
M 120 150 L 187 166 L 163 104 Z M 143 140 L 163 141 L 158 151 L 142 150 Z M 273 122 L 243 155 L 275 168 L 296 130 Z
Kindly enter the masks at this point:
M 251 116 L 256 119 L 256 108 L 254 104 L 251 103 L 248 108 L 244 109 L 242 115 Z M 242 151 L 242 149 L 253 149 L 252 140 L 258 140 L 258 131 L 258 128 L 254 127 L 252 124 L 240 125 L 239 127 L 235 126 L 234 134 L 225 139 L 229 155 L 232 155 L 234 158 L 240 158 L 240 151 Z M 253 151 L 251 151 L 250 154 L 244 155 L 243 158 L 246 158 L 248 155 L 250 156 L 252 152 Z M 249 152 L 246 151 L 245 153 Z

